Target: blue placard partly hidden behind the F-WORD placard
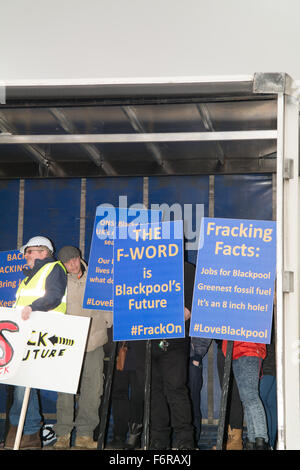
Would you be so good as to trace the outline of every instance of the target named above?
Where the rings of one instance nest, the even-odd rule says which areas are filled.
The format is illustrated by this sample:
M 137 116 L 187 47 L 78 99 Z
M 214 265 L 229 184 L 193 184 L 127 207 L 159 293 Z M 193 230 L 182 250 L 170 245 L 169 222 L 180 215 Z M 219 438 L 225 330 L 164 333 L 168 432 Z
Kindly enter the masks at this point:
M 136 227 L 149 221 L 159 221 L 161 217 L 160 211 L 106 205 L 97 207 L 83 308 L 113 309 L 113 245 L 116 228 L 120 229 L 118 236 L 124 237 L 127 226 Z

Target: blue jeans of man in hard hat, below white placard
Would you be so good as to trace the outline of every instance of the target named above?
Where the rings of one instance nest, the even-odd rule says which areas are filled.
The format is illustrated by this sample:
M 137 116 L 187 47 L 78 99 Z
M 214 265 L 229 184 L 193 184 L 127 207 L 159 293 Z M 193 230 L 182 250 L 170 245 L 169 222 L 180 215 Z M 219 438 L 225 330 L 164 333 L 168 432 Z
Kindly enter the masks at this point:
M 14 388 L 13 404 L 9 412 L 9 421 L 12 426 L 18 426 L 19 424 L 24 393 L 25 387 L 17 386 Z M 41 427 L 41 419 L 37 390 L 32 388 L 30 390 L 30 396 L 28 400 L 23 434 L 35 434 L 38 432 Z

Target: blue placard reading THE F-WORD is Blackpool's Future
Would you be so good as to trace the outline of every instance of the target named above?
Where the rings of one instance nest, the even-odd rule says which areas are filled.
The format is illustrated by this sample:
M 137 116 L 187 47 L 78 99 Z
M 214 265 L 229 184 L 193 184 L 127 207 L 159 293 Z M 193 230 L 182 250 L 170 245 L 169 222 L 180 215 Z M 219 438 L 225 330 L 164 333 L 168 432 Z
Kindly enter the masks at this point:
M 114 242 L 114 341 L 182 338 L 183 222 L 134 233 Z

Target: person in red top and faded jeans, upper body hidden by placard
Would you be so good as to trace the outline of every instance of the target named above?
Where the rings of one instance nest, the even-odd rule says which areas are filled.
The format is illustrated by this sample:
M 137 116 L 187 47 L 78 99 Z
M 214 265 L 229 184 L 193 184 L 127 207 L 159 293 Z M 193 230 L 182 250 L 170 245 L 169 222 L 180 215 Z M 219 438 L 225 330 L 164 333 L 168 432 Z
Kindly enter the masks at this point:
M 227 341 L 222 351 L 226 356 Z M 243 404 L 247 424 L 247 449 L 268 449 L 266 415 L 258 393 L 262 360 L 266 357 L 266 345 L 243 341 L 233 342 L 232 370 Z

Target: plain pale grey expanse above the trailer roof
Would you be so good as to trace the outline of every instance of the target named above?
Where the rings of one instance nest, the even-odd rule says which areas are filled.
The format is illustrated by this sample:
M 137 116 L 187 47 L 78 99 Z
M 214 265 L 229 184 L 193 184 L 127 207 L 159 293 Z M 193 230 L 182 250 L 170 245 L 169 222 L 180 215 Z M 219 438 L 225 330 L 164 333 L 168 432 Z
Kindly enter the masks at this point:
M 0 0 L 0 81 L 286 72 L 299 0 Z

